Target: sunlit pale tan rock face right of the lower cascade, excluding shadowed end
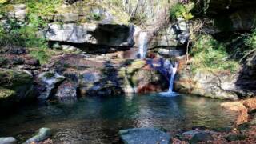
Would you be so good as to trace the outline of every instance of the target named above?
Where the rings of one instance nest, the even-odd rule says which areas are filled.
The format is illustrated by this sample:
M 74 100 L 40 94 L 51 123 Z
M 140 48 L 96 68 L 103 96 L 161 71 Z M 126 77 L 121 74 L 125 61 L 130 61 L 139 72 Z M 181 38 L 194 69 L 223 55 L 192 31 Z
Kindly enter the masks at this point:
M 210 98 L 237 100 L 238 88 L 235 82 L 238 74 L 214 74 L 210 72 L 182 70 L 174 82 L 175 89 L 187 93 Z

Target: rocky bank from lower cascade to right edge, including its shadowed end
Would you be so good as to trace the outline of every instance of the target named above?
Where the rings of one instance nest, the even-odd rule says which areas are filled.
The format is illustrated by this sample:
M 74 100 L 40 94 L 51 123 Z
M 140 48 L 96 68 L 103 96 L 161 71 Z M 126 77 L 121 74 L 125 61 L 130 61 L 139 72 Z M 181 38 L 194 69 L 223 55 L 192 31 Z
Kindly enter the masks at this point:
M 254 54 L 252 54 L 254 55 Z M 246 65 L 234 73 L 228 71 L 192 71 L 180 61 L 180 69 L 174 83 L 175 90 L 186 94 L 196 94 L 209 98 L 238 100 L 254 97 L 255 73 L 254 56 L 250 56 Z

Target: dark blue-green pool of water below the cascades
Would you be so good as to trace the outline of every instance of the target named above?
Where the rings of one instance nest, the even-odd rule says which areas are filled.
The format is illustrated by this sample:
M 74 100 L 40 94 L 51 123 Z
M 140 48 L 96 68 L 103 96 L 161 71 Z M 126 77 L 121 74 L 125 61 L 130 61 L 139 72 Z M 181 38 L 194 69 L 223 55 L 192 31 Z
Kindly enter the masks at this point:
M 163 127 L 171 134 L 193 126 L 230 126 L 234 113 L 220 107 L 222 101 L 158 94 L 109 98 L 81 98 L 73 103 L 24 106 L 0 118 L 0 137 L 28 138 L 40 127 L 50 127 L 56 143 L 118 143 L 118 130 Z

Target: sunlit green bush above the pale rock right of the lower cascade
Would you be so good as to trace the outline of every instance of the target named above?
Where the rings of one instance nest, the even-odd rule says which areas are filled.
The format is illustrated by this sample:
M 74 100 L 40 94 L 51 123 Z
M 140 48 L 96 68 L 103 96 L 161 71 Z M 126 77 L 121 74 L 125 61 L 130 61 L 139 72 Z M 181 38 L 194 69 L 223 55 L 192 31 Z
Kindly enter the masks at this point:
M 198 36 L 192 48 L 193 70 L 234 72 L 238 69 L 238 62 L 229 59 L 226 47 L 207 34 Z

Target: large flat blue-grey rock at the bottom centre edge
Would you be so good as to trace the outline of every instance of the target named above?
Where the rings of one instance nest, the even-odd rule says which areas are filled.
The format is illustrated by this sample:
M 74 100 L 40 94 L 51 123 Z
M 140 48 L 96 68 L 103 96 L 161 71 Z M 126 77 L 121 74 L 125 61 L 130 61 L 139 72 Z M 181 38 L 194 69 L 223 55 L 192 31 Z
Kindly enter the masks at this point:
M 161 130 L 155 128 L 134 128 L 128 130 L 120 130 L 122 142 L 127 144 L 137 143 L 159 143 L 159 144 L 170 144 L 171 136 Z

